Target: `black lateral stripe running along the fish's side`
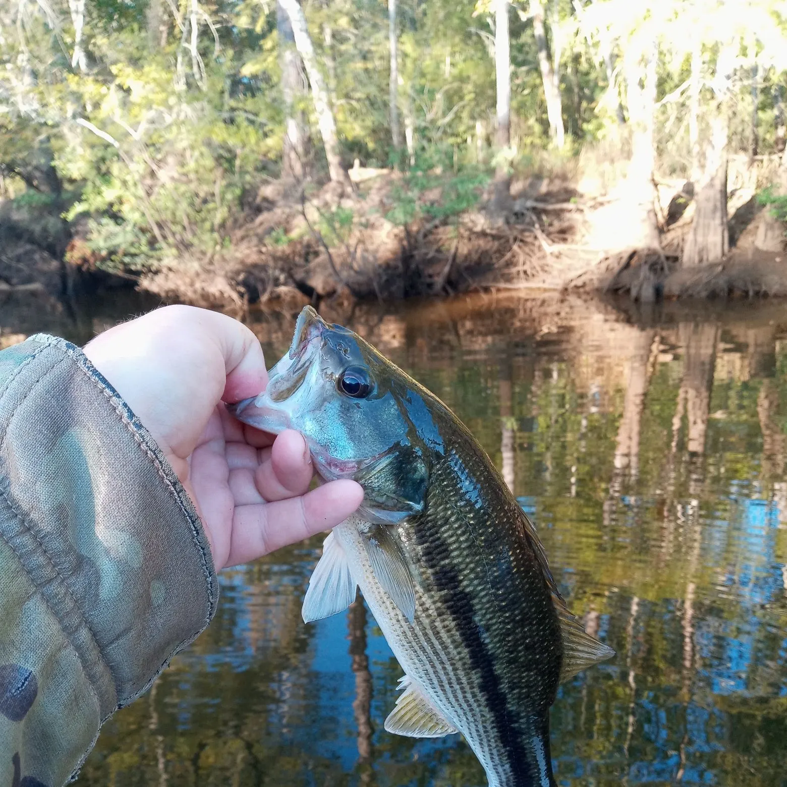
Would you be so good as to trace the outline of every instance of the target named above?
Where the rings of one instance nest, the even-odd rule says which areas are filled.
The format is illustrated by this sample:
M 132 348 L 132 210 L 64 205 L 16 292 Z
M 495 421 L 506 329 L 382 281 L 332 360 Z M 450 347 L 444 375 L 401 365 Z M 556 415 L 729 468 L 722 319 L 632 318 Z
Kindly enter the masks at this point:
M 515 729 L 515 716 L 508 718 L 505 695 L 500 679 L 494 670 L 492 654 L 481 637 L 475 623 L 471 597 L 462 588 L 459 575 L 450 562 L 450 552 L 436 528 L 414 528 L 416 538 L 427 536 L 421 542 L 423 560 L 427 563 L 435 589 L 441 593 L 445 610 L 453 618 L 456 631 L 467 652 L 471 667 L 478 676 L 478 685 L 486 698 L 486 705 L 493 714 L 493 724 L 497 738 L 505 749 L 503 758 L 512 769 L 512 779 L 506 787 L 533 787 L 530 774 L 534 763 L 530 763 L 530 752 L 523 746 Z M 419 539 L 420 540 L 420 539 Z

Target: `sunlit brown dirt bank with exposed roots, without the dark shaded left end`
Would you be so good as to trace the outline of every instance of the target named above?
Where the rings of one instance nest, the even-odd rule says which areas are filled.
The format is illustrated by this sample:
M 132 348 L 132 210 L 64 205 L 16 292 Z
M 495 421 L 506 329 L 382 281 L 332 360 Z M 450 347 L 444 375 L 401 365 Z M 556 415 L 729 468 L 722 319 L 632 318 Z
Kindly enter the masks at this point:
M 469 290 L 603 290 L 638 299 L 648 286 L 656 299 L 787 295 L 785 253 L 757 248 L 767 211 L 755 188 L 730 194 L 730 255 L 682 268 L 693 204 L 678 180 L 660 184 L 662 249 L 649 256 L 618 248 L 614 199 L 555 179 L 515 181 L 504 216 L 487 209 L 482 178 L 435 174 L 416 182 L 366 170 L 354 193 L 310 195 L 272 183 L 231 249 L 207 263 L 164 268 L 142 287 L 165 300 L 238 308 Z

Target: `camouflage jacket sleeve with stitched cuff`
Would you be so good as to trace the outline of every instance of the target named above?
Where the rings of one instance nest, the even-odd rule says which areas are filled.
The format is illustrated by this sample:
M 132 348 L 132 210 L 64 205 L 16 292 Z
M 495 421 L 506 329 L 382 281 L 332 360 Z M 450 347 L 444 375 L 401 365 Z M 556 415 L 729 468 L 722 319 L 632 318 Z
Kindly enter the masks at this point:
M 187 493 L 82 351 L 0 352 L 0 785 L 74 778 L 217 597 Z

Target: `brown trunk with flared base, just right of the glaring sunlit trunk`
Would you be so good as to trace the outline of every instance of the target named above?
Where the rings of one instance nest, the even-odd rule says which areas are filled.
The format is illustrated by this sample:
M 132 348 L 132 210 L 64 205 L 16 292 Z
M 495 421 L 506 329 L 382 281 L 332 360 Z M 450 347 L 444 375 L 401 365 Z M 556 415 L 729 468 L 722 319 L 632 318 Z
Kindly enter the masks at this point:
M 717 116 L 711 120 L 711 140 L 705 151 L 704 180 L 694 198 L 694 220 L 683 248 L 684 267 L 718 262 L 730 250 L 726 146 L 726 116 Z

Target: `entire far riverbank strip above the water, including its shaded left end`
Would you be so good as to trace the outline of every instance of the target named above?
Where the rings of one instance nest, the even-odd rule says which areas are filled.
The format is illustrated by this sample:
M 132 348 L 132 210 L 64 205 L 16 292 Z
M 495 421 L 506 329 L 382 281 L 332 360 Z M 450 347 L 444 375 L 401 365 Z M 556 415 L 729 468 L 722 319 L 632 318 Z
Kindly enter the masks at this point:
M 3 205 L 0 286 L 38 287 L 53 297 L 135 286 L 162 301 L 237 312 L 256 303 L 297 308 L 493 290 L 600 291 L 645 301 L 787 296 L 785 237 L 771 231 L 763 243 L 768 209 L 748 170 L 730 177 L 730 253 L 692 267 L 681 264 L 694 213 L 682 180 L 658 184 L 661 248 L 654 250 L 626 246 L 626 205 L 614 190 L 580 190 L 566 172 L 515 177 L 503 213 L 490 207 L 490 173 L 482 169 L 356 167 L 350 176 L 353 188 L 343 190 L 267 183 L 222 246 L 139 272 L 117 264 L 117 255 L 103 257 L 87 242 L 84 222 L 69 225 L 46 205 Z

